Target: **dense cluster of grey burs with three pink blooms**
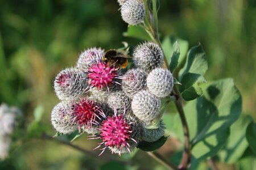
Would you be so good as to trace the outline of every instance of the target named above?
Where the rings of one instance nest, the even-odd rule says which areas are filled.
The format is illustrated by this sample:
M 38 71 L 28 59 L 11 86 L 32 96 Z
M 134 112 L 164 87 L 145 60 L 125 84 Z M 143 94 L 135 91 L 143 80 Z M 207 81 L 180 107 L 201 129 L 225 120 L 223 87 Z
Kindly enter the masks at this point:
M 174 86 L 171 72 L 161 68 L 163 57 L 159 45 L 144 42 L 133 51 L 134 68 L 126 70 L 118 61 L 108 62 L 101 48 L 86 49 L 75 67 L 55 78 L 61 102 L 51 113 L 53 127 L 62 134 L 91 134 L 102 141 L 102 152 L 109 148 L 119 155 L 140 141 L 158 141 L 165 129 L 161 99 Z

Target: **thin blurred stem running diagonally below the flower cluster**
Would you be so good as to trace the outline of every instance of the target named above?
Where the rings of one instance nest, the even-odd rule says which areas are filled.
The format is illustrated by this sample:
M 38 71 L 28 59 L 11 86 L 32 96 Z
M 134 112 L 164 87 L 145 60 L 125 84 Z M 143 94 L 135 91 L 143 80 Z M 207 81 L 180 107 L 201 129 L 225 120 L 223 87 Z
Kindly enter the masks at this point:
M 55 142 L 62 143 L 62 144 L 64 144 L 64 145 L 67 145 L 67 146 L 70 146 L 70 147 L 72 147 L 72 148 L 75 148 L 76 150 L 81 151 L 81 152 L 83 152 L 83 153 L 86 154 L 86 155 L 92 156 L 92 157 L 94 157 L 94 158 L 99 158 L 99 157 L 98 157 L 98 154 L 96 154 L 96 153 L 94 153 L 94 152 L 92 152 L 92 151 L 89 151 L 89 150 L 86 150 L 86 149 L 84 149 L 84 148 L 81 148 L 80 146 L 73 145 L 72 143 L 67 142 L 67 141 L 63 141 L 63 140 L 61 140 L 61 139 L 59 139 L 59 138 L 53 138 L 53 137 L 51 137 L 50 135 L 48 135 L 48 134 L 46 134 L 46 133 L 44 133 L 44 134 L 42 135 L 42 138 L 43 138 L 43 139 L 48 139 L 48 140 L 51 140 L 51 141 L 55 141 Z M 115 157 L 112 156 L 112 155 L 101 155 L 100 158 L 105 159 L 105 160 L 112 160 L 112 161 L 115 161 L 115 162 L 121 162 L 121 163 L 123 163 L 123 164 L 132 164 L 131 162 L 127 162 L 127 161 L 125 161 L 125 160 L 117 159 L 117 158 L 115 158 Z

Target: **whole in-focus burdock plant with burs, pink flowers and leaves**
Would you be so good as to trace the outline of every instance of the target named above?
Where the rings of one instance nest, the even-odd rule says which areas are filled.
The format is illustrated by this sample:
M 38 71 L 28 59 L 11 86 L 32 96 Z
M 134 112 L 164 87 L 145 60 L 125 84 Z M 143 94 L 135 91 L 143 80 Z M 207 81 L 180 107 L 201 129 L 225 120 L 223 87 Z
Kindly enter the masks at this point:
M 233 80 L 207 83 L 208 64 L 201 44 L 187 53 L 188 46 L 179 46 L 185 40 L 167 36 L 160 41 L 158 1 L 118 3 L 122 19 L 129 24 L 126 36 L 140 36 L 139 31 L 143 32 L 139 38 L 146 40 L 132 52 L 126 47 L 120 56 L 108 54 L 115 60 L 111 63 L 104 58 L 108 50 L 87 48 L 74 68 L 57 74 L 54 88 L 61 102 L 51 116 L 56 131 L 77 130 L 75 138 L 90 134 L 90 139 L 100 141 L 96 147 L 100 155 L 109 150 L 121 156 L 139 148 L 173 169 L 193 169 L 207 159 L 214 164 L 213 157 L 239 159 L 242 152 L 232 160 L 224 153 L 233 145 L 228 138 L 241 113 L 241 95 Z M 133 64 L 126 67 L 127 53 Z M 156 152 L 170 138 L 183 144 L 183 156 L 173 155 L 180 165 Z

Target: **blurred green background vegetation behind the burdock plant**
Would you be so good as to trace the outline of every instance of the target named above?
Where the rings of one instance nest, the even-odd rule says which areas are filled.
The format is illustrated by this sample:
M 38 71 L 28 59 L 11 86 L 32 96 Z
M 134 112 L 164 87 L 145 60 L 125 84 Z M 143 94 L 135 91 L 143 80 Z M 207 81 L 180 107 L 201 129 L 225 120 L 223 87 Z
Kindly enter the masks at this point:
M 122 41 L 139 42 L 122 36 L 127 24 L 118 9 L 114 0 L 0 1 L 1 103 L 21 108 L 26 124 L 34 119 L 35 109 L 41 110 L 53 135 L 50 113 L 59 102 L 52 87 L 55 75 L 74 66 L 83 49 L 108 50 L 122 47 Z M 187 40 L 189 47 L 200 42 L 209 63 L 207 80 L 233 77 L 243 96 L 243 113 L 255 120 L 256 1 L 160 0 L 159 31 L 162 39 L 174 35 Z M 86 137 L 74 143 L 89 149 L 97 146 Z M 145 154 L 138 155 L 143 162 Z M 34 139 L 2 164 L 9 169 L 97 169 L 104 162 L 59 143 Z M 152 165 L 162 169 L 153 160 L 140 168 Z

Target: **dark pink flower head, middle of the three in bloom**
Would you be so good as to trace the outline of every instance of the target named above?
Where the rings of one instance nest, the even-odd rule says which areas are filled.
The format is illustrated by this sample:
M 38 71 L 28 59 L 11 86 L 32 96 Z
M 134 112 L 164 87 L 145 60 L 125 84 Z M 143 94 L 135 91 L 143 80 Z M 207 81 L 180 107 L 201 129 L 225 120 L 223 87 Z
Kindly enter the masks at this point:
M 99 120 L 105 117 L 101 108 L 93 100 L 81 99 L 74 105 L 73 114 L 75 116 L 73 121 L 76 121 L 79 127 L 86 125 L 86 128 L 91 128 L 92 125 L 99 125 Z

